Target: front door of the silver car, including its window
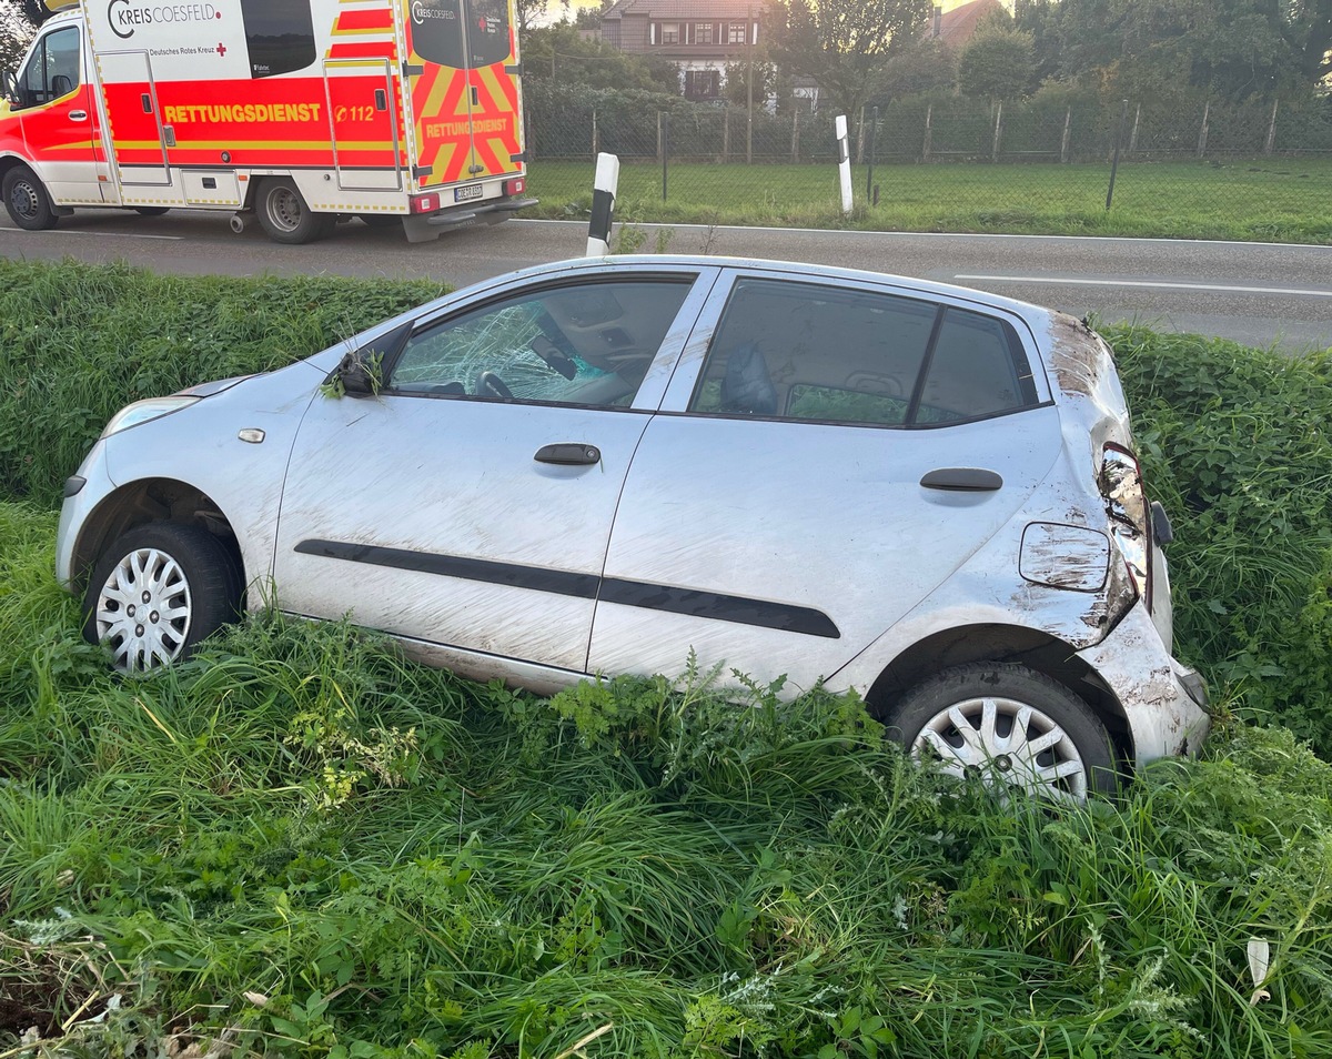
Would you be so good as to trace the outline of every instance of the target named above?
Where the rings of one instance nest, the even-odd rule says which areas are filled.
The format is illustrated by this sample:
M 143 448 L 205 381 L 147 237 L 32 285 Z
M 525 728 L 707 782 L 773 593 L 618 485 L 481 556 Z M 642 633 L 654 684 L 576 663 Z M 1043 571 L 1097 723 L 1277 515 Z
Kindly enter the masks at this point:
M 301 424 L 280 605 L 583 671 L 625 474 L 714 277 L 585 273 L 404 328 L 378 396 Z

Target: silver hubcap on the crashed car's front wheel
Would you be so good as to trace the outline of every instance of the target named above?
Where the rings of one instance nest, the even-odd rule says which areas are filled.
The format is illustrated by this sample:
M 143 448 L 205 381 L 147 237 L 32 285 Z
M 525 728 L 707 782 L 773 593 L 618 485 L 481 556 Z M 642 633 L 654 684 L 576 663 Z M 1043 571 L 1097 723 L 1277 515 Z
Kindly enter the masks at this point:
M 144 673 L 180 657 L 189 635 L 189 582 L 165 551 L 141 547 L 111 571 L 97 594 L 97 639 L 123 673 Z

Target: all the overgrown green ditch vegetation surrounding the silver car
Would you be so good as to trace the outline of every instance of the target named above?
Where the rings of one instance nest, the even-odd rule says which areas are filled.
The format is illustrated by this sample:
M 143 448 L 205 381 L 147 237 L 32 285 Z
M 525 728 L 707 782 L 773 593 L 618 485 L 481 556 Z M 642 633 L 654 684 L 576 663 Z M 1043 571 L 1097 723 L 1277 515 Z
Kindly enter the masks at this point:
M 436 290 L 0 269 L 0 1055 L 1332 1055 L 1332 353 L 1108 332 L 1179 653 L 1285 727 L 1055 814 L 698 673 L 541 701 L 261 617 L 112 679 L 51 575 L 103 421 Z

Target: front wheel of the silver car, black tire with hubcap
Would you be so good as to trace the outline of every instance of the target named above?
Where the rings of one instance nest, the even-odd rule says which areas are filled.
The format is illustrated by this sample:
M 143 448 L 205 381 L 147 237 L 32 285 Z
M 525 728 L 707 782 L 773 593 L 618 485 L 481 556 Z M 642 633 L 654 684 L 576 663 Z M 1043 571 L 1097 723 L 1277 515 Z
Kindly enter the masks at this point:
M 93 570 L 84 637 L 111 649 L 116 670 L 148 673 L 188 658 L 200 641 L 236 621 L 241 587 L 236 558 L 206 530 L 178 522 L 135 526 Z

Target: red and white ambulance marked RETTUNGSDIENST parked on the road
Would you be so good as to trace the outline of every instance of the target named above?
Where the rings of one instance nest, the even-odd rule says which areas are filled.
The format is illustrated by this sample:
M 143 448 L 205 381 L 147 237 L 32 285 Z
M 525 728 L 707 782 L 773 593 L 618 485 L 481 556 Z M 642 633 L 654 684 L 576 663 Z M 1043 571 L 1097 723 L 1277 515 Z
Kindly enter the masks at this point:
M 417 242 L 534 202 L 514 0 L 47 1 L 0 103 L 20 228 L 222 209 L 278 242 L 348 216 Z

